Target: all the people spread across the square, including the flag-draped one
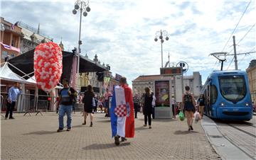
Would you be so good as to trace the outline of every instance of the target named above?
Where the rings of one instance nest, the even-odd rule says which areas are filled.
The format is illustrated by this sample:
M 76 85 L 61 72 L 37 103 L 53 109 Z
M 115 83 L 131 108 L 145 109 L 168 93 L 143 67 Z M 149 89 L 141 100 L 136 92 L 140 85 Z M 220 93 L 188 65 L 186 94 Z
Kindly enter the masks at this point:
M 58 105 L 58 130 L 62 132 L 64 129 L 63 117 L 67 115 L 67 131 L 72 128 L 72 112 L 74 110 L 74 102 L 83 104 L 83 120 L 82 125 L 87 124 L 87 116 L 90 116 L 90 127 L 93 125 L 93 113 L 97 113 L 97 108 L 100 111 L 105 111 L 105 117 L 111 117 L 112 136 L 114 143 L 119 145 L 119 138 L 121 142 L 126 141 L 125 137 L 134 137 L 134 118 L 138 118 L 138 113 L 144 114 L 144 127 L 149 125 L 151 129 L 151 118 L 154 119 L 154 108 L 156 106 L 156 97 L 149 87 L 144 89 L 141 97 L 137 93 L 132 96 L 132 89 L 127 85 L 125 77 L 119 81 L 119 86 L 114 87 L 114 94 L 108 88 L 102 97 L 97 96 L 91 85 L 87 86 L 85 93 L 77 93 L 74 88 L 69 86 L 68 79 L 63 79 L 63 88 L 59 92 L 57 101 Z M 193 130 L 193 117 L 196 110 L 203 117 L 204 105 L 206 98 L 203 94 L 198 98 L 196 104 L 193 94 L 190 92 L 189 86 L 185 87 L 186 92 L 182 96 L 182 103 L 178 103 L 178 111 L 186 115 L 188 131 Z M 7 98 L 7 110 L 5 119 L 14 119 L 12 116 L 14 106 L 18 95 L 21 93 L 21 88 L 18 83 L 9 89 L 9 96 Z M 112 106 L 110 110 L 110 97 L 112 97 Z M 197 107 L 198 106 L 198 107 Z M 175 109 L 176 110 L 176 109 Z M 176 111 L 175 111 L 176 112 Z M 175 114 L 175 113 L 174 113 Z M 127 129 L 128 127 L 128 129 Z

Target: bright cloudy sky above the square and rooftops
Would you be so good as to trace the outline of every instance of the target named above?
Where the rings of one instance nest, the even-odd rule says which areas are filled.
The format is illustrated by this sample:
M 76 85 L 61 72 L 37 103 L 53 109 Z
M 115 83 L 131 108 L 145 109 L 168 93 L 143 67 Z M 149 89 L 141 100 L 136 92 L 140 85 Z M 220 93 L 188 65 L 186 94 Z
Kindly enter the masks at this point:
M 79 14 L 72 13 L 74 4 L 72 0 L 1 0 L 1 16 L 34 28 L 40 23 L 41 33 L 58 44 L 62 38 L 65 50 L 71 51 L 78 46 L 80 21 Z M 233 34 L 237 52 L 256 50 L 255 1 L 94 0 L 89 6 L 91 11 L 82 17 L 82 55 L 87 53 L 93 59 L 97 54 L 100 62 L 110 64 L 113 75 L 127 76 L 129 84 L 139 75 L 159 74 L 161 42 L 154 41 L 159 30 L 169 33 L 169 40 L 163 43 L 164 64 L 170 53 L 171 64 L 187 62 L 185 75 L 200 72 L 203 84 L 210 72 L 220 69 L 215 57 L 208 55 L 233 54 L 230 36 L 245 8 Z M 223 69 L 235 69 L 232 59 L 227 57 Z M 247 69 L 252 59 L 256 59 L 255 53 L 238 55 L 238 69 Z

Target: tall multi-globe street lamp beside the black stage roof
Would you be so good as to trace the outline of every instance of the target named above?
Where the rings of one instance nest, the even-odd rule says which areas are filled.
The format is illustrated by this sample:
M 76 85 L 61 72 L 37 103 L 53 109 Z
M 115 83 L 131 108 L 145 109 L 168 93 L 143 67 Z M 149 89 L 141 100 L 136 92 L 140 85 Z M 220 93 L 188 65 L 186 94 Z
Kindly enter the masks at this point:
M 79 73 L 79 62 L 80 62 L 80 45 L 82 45 L 82 40 L 81 40 L 81 22 L 82 22 L 82 15 L 87 16 L 87 12 L 90 12 L 90 7 L 89 7 L 89 1 L 85 2 L 83 0 L 78 0 L 75 2 L 75 7 L 73 9 L 73 14 L 78 13 L 77 10 L 80 10 L 80 25 L 79 25 L 79 40 L 78 40 L 78 71 Z

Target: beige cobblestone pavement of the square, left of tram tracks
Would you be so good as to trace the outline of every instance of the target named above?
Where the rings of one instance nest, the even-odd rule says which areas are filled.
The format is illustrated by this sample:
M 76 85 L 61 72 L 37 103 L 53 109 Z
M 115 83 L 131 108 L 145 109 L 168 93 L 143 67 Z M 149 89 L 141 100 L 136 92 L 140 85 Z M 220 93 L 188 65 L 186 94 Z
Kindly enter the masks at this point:
M 95 114 L 93 127 L 82 125 L 80 113 L 73 114 L 70 132 L 56 132 L 55 113 L 14 116 L 14 120 L 1 120 L 1 159 L 220 159 L 200 123 L 188 132 L 186 120 L 155 119 L 149 129 L 142 127 L 140 113 L 135 137 L 117 147 L 110 118 L 103 113 Z

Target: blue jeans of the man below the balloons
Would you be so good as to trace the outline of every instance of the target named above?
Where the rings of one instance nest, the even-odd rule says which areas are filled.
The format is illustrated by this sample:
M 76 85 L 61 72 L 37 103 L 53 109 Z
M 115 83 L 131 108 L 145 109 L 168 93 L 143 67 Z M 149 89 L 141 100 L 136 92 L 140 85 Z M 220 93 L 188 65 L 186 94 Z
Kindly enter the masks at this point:
M 63 117 L 65 115 L 65 113 L 67 113 L 67 127 L 68 129 L 71 128 L 71 121 L 72 121 L 72 108 L 73 105 L 60 105 L 59 108 L 59 129 L 63 130 L 64 125 L 63 125 Z

